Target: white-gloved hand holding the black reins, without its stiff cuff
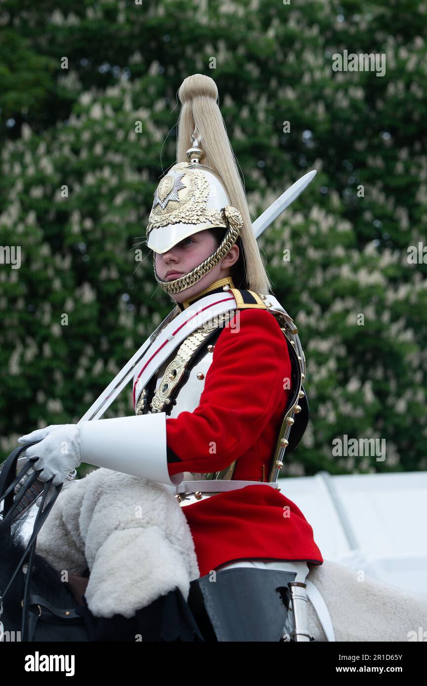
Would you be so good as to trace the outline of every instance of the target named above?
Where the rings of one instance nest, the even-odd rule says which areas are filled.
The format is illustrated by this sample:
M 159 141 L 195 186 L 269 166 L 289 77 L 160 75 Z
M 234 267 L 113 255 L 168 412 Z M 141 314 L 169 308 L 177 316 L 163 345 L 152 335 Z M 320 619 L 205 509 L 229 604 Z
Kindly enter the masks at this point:
M 23 439 L 37 440 L 43 435 L 41 434 L 43 431 L 45 438 L 25 449 L 27 459 L 35 460 L 28 473 L 42 469 L 38 478 L 41 481 L 49 481 L 51 477 L 54 477 L 51 486 L 59 486 L 67 478 L 69 472 L 82 462 L 80 428 L 76 424 L 54 424 L 45 429 L 36 429 L 31 434 L 21 436 L 18 440 L 21 442 Z

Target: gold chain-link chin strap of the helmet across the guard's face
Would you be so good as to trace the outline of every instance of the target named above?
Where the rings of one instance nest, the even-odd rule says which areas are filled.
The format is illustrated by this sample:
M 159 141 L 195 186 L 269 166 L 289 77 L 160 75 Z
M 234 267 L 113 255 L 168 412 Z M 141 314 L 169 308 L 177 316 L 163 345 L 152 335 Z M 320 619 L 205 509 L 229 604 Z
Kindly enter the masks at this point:
M 154 276 L 157 283 L 159 283 L 160 287 L 163 289 L 163 291 L 168 293 L 168 295 L 180 293 L 181 291 L 200 281 L 205 274 L 210 272 L 211 269 L 213 269 L 215 265 L 217 265 L 218 262 L 220 262 L 227 255 L 227 253 L 235 244 L 235 241 L 237 241 L 240 235 L 240 230 L 243 226 L 242 215 L 238 209 L 233 207 L 233 205 L 227 205 L 226 207 L 222 208 L 221 213 L 222 217 L 224 218 L 224 222 L 227 221 L 229 225 L 229 230 L 224 236 L 222 243 L 210 257 L 205 259 L 205 261 L 199 264 L 198 267 L 195 267 L 191 272 L 188 272 L 188 274 L 184 274 L 184 276 L 180 276 L 179 279 L 174 279 L 172 281 L 160 279 L 159 276 L 157 276 L 156 255 L 153 252 Z

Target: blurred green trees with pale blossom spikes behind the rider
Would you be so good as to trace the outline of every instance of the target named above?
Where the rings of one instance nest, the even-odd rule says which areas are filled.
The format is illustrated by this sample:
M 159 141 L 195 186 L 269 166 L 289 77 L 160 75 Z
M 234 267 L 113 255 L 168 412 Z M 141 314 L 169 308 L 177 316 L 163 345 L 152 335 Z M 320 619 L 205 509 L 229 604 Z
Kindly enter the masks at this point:
M 415 0 L 5 0 L 0 243 L 21 268 L 0 264 L 2 456 L 78 421 L 170 311 L 132 246 L 175 160 L 176 92 L 205 73 L 254 219 L 318 170 L 261 239 L 308 363 L 312 420 L 284 472 L 427 469 L 427 264 L 408 263 L 426 241 L 426 32 Z M 384 75 L 334 71 L 344 50 L 384 54 Z M 386 460 L 333 457 L 345 434 L 385 438 Z

